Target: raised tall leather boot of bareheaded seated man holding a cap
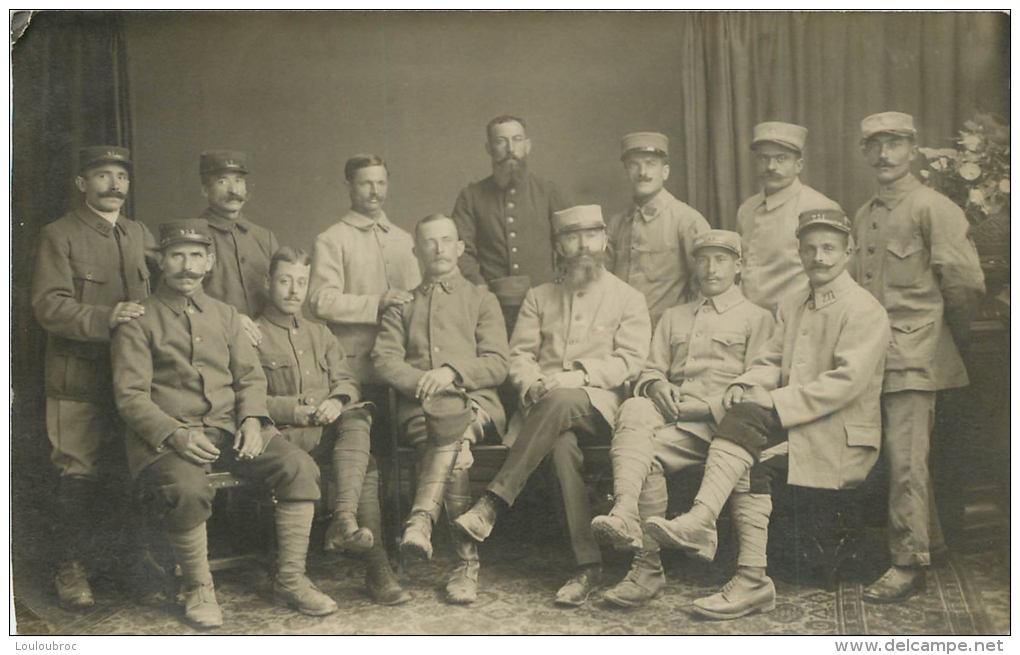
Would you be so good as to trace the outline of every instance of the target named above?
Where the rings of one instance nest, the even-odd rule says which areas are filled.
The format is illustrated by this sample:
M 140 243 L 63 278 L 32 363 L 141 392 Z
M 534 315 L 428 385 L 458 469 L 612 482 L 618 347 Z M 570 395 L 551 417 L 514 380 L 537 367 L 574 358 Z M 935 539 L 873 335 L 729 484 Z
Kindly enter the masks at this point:
M 400 542 L 400 547 L 405 552 L 427 560 L 432 558 L 432 526 L 439 520 L 450 475 L 457 462 L 457 455 L 460 454 L 461 441 L 463 440 L 439 447 L 431 443 L 425 445 L 418 473 L 418 489 Z

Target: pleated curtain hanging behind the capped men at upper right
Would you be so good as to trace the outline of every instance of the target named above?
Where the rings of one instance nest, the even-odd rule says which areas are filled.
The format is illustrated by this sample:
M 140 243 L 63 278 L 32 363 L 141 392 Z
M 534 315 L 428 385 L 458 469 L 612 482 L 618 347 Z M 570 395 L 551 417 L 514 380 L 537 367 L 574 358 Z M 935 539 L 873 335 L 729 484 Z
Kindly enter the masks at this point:
M 809 128 L 807 184 L 848 213 L 871 195 L 860 120 L 899 110 L 923 145 L 950 147 L 975 111 L 1009 119 L 1009 17 L 994 13 L 694 13 L 680 34 L 685 189 L 732 230 L 757 191 L 754 125 Z

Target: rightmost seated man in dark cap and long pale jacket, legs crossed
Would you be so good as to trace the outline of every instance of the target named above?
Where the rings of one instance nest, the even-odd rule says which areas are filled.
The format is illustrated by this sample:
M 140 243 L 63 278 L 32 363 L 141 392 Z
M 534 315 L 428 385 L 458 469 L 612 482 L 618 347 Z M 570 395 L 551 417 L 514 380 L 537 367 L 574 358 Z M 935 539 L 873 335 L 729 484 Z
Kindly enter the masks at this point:
M 707 618 L 775 607 L 775 586 L 765 574 L 771 475 L 788 474 L 800 487 L 853 489 L 878 459 L 888 316 L 846 270 L 852 249 L 843 211 L 801 213 L 797 237 L 810 289 L 780 301 L 772 338 L 726 389 L 726 415 L 691 511 L 645 522 L 662 546 L 711 561 L 719 511 L 730 494 L 748 494 L 734 508 L 745 525 L 736 574 L 694 603 Z

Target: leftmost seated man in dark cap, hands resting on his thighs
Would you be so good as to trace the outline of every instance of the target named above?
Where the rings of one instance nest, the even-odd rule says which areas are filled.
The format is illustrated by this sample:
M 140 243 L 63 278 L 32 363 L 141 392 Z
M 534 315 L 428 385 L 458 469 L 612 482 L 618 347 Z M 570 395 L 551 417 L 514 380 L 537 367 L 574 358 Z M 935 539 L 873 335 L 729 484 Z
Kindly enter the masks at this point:
M 263 482 L 276 499 L 274 596 L 298 611 L 337 603 L 305 575 L 318 468 L 272 426 L 265 375 L 237 309 L 210 298 L 202 279 L 215 254 L 204 218 L 160 225 L 162 279 L 145 313 L 114 333 L 113 389 L 128 427 L 128 463 L 162 521 L 183 572 L 185 619 L 223 622 L 209 570 L 211 469 Z

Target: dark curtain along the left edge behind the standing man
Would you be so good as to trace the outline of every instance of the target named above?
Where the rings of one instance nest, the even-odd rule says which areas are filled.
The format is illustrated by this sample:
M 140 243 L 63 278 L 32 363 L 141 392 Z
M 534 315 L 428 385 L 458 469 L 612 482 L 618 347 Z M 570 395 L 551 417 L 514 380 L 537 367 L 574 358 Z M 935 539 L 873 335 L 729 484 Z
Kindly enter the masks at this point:
M 15 556 L 37 555 L 35 546 L 45 543 L 32 537 L 39 537 L 36 531 L 45 524 L 55 477 L 47 464 L 45 337 L 29 298 L 36 242 L 43 225 L 79 201 L 73 187 L 78 148 L 131 147 L 125 58 L 120 19 L 113 13 L 36 13 L 13 46 L 10 446 Z M 131 213 L 130 206 L 126 211 Z

